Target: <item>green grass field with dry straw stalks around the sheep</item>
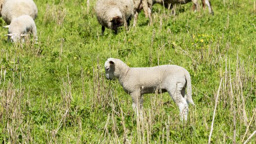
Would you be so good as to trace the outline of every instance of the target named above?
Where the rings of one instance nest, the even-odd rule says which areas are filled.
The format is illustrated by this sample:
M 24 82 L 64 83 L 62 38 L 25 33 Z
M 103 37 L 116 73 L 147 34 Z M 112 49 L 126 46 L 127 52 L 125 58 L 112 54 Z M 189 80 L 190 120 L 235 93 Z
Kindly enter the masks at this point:
M 154 26 L 142 12 L 135 28 L 101 36 L 95 0 L 35 0 L 38 44 L 7 42 L 0 28 L 0 142 L 205 144 L 216 104 L 210 142 L 245 142 L 256 130 L 255 1 L 211 2 L 214 16 L 192 3 L 175 15 L 154 5 Z M 137 117 L 130 95 L 105 78 L 109 57 L 186 68 L 195 102 L 187 123 L 168 93 L 144 95 Z

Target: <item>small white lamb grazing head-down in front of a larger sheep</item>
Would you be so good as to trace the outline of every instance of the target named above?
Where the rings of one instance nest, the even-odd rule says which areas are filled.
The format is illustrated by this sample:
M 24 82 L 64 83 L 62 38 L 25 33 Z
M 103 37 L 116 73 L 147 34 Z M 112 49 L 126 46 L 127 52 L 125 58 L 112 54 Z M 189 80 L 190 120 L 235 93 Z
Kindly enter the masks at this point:
M 11 24 L 5 26 L 5 28 L 9 28 L 8 34 L 5 36 L 8 36 L 8 39 L 11 39 L 12 42 L 17 42 L 29 32 L 33 33 L 35 41 L 37 41 L 37 27 L 31 16 L 19 16 L 18 18 L 13 19 Z

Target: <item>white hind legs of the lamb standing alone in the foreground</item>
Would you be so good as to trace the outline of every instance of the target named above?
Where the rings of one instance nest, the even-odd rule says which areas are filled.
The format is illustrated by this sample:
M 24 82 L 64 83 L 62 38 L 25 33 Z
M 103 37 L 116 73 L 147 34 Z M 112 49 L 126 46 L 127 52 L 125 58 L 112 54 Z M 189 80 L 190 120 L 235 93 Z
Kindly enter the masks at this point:
M 176 103 L 176 105 L 179 107 L 179 116 L 181 121 L 185 120 L 187 121 L 188 113 L 189 113 L 189 107 L 186 102 L 185 95 L 182 95 L 182 90 L 184 88 L 184 85 L 182 83 L 177 83 L 176 88 L 173 88 L 172 90 L 168 90 L 168 93 L 172 97 L 172 100 Z

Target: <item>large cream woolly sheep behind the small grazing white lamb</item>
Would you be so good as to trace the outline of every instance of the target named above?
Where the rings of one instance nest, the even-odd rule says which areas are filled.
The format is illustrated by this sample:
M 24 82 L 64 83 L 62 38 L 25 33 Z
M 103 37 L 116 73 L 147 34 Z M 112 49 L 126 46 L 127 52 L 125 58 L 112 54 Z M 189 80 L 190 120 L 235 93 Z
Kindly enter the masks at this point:
M 5 22 L 10 24 L 13 19 L 22 15 L 29 15 L 35 19 L 37 12 L 37 6 L 33 0 L 5 0 L 1 14 Z

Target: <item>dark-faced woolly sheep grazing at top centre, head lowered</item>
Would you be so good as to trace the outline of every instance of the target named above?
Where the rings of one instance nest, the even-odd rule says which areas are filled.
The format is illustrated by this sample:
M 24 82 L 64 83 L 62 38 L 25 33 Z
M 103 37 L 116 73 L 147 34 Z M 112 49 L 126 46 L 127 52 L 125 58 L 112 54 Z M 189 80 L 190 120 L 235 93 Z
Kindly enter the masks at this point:
M 118 27 L 123 24 L 129 26 L 133 17 L 132 0 L 98 0 L 95 12 L 99 23 L 102 25 L 101 33 L 104 34 L 105 27 L 112 29 L 117 34 Z

